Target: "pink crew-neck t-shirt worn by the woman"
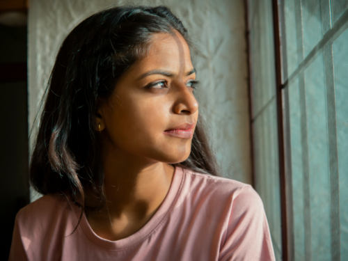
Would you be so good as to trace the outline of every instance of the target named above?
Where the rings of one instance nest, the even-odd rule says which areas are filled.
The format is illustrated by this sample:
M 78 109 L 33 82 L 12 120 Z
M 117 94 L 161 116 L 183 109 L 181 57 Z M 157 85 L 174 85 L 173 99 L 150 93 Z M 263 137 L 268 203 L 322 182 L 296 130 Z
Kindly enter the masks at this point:
M 47 195 L 19 211 L 10 260 L 275 260 L 258 193 L 247 184 L 176 168 L 148 223 L 117 241 L 99 237 L 79 208 Z

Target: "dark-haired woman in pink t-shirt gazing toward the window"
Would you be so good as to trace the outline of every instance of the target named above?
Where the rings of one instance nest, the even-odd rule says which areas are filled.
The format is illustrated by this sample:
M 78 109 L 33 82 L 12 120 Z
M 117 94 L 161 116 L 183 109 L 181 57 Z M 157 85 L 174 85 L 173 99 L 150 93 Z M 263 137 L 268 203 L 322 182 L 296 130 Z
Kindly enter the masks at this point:
M 65 39 L 10 260 L 274 260 L 262 201 L 216 177 L 187 29 L 122 6 Z

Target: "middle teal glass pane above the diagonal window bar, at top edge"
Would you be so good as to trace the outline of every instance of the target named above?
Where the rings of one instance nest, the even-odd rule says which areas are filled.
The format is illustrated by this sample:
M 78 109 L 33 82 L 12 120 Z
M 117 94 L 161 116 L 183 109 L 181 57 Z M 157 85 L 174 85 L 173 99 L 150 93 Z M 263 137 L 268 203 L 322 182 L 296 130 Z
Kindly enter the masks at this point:
M 329 2 L 329 1 L 328 1 Z M 301 15 L 303 25 L 303 54 L 306 57 L 322 39 L 322 15 L 320 1 L 302 0 Z

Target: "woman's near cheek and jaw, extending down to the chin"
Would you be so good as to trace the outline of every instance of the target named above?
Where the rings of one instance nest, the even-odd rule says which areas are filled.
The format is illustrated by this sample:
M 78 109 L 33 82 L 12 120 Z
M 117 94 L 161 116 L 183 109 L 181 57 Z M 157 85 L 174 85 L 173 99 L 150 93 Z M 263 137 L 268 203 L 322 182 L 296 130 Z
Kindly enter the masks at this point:
M 173 122 L 180 120 L 177 118 L 180 116 L 171 113 L 171 108 L 171 101 L 164 97 L 124 99 L 106 120 L 113 144 L 120 150 L 156 161 L 184 161 L 191 152 L 191 140 L 163 134 Z

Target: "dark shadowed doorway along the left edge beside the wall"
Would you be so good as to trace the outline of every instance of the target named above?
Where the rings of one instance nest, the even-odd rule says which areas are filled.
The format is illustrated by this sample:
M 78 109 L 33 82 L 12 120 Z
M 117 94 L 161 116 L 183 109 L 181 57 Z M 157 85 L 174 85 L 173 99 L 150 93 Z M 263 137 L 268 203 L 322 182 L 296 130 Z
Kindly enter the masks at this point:
M 29 202 L 27 27 L 0 24 L 0 260 L 8 260 L 15 216 Z

